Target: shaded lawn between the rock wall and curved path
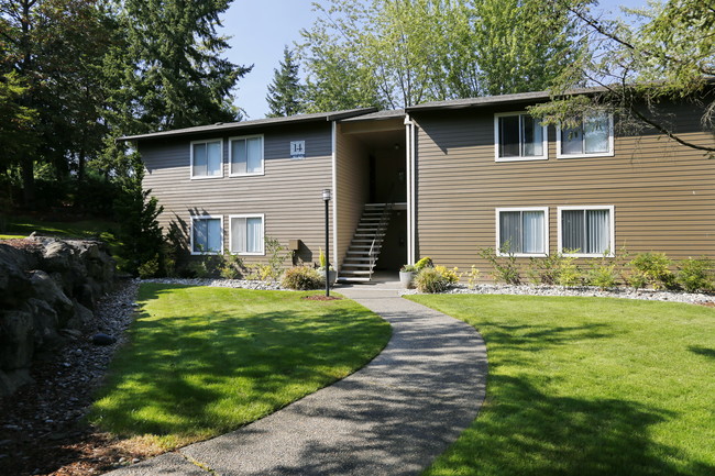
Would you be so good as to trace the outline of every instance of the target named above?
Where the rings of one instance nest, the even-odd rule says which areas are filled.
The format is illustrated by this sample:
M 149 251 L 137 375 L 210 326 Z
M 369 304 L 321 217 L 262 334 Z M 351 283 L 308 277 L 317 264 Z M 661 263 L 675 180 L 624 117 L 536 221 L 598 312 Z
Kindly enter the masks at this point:
M 387 322 L 311 292 L 143 284 L 90 421 L 165 450 L 254 421 L 370 362 Z

